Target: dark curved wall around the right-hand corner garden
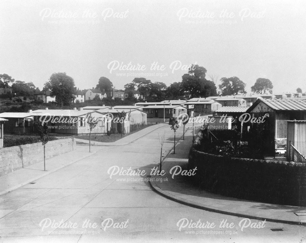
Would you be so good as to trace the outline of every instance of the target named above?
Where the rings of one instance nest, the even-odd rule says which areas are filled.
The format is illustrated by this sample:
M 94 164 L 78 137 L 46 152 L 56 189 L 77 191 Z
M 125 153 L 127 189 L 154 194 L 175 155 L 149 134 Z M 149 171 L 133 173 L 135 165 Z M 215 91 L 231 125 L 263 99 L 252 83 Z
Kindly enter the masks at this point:
M 201 132 L 189 152 L 201 188 L 253 201 L 306 206 L 306 163 L 232 158 L 197 150 Z

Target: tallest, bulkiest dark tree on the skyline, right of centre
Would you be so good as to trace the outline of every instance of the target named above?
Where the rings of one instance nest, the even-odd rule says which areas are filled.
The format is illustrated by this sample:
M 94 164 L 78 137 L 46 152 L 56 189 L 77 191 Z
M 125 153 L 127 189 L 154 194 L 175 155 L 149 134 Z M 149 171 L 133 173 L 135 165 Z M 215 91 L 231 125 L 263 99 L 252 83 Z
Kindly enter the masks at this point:
M 215 83 L 205 79 L 206 68 L 199 65 L 192 65 L 192 67 L 182 76 L 182 90 L 189 92 L 191 98 L 216 95 Z

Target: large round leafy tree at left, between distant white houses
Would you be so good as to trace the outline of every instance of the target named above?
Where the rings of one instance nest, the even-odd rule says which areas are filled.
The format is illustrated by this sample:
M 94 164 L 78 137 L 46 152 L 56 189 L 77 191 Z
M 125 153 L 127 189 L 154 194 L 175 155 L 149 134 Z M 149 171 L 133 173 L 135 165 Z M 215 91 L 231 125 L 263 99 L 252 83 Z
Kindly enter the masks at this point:
M 50 90 L 51 96 L 55 96 L 56 101 L 63 105 L 70 105 L 75 98 L 75 87 L 73 78 L 66 75 L 65 72 L 53 73 L 48 82 L 44 85 L 44 90 Z

